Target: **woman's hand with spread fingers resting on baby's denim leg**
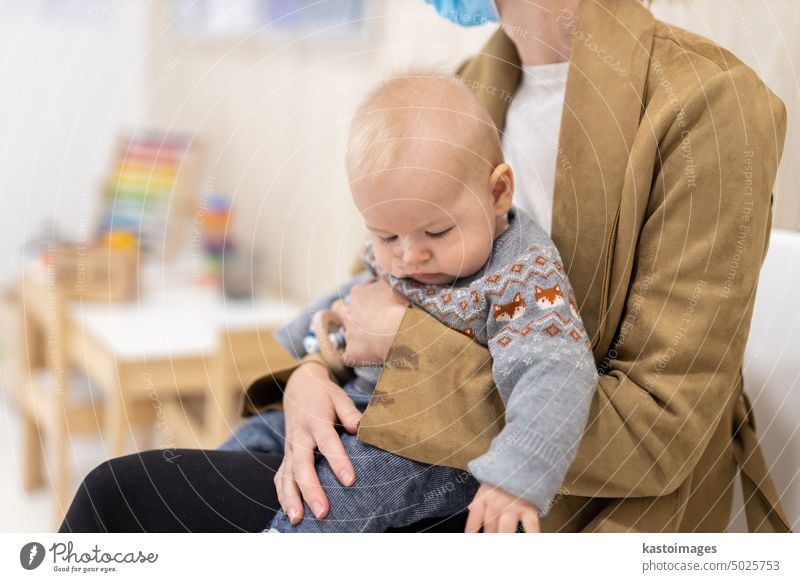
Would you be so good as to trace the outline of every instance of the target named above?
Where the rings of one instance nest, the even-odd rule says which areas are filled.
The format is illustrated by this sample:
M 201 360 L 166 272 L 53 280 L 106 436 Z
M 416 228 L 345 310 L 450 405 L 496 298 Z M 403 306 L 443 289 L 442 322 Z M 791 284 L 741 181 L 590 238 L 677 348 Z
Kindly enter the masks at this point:
M 275 474 L 275 489 L 281 508 L 292 524 L 303 519 L 303 500 L 317 518 L 328 514 L 328 498 L 314 468 L 318 448 L 344 486 L 353 484 L 355 471 L 342 446 L 334 423 L 355 433 L 361 413 L 328 370 L 308 362 L 289 377 L 283 395 L 286 443 L 283 462 Z

